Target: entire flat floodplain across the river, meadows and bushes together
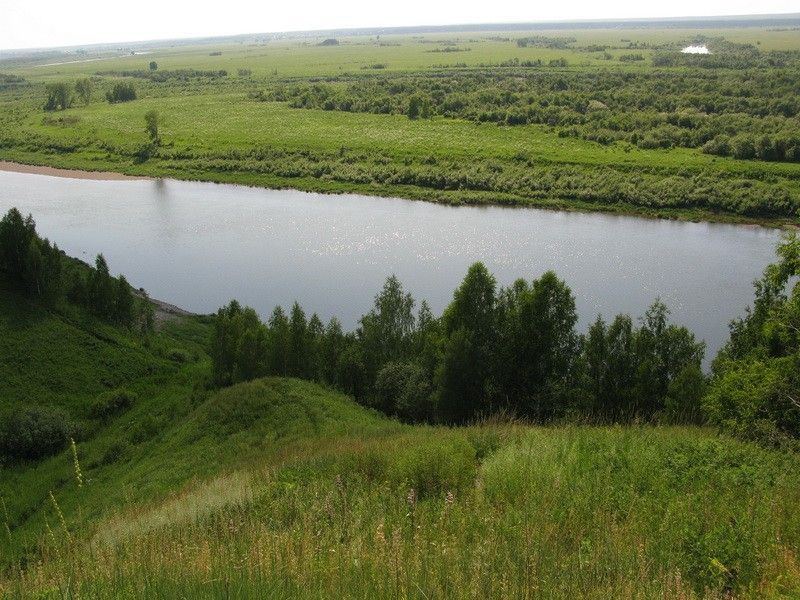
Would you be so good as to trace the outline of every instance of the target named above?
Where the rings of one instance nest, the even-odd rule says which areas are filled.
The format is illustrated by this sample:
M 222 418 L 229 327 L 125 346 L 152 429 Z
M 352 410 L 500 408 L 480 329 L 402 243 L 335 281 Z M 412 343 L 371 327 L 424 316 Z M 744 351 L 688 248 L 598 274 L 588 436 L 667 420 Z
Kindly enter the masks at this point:
M 796 224 L 800 45 L 786 25 L 245 36 L 146 57 L 11 57 L 0 158 Z M 711 53 L 682 54 L 689 44 Z M 144 125 L 154 111 L 157 140 Z

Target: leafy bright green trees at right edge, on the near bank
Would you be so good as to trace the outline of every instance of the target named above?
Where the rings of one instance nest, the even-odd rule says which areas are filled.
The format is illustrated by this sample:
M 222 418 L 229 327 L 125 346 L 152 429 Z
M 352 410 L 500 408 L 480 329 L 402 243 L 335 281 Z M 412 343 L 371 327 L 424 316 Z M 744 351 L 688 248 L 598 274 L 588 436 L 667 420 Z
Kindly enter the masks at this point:
M 731 322 L 703 408 L 711 423 L 746 439 L 800 449 L 800 238 L 755 282 L 755 300 Z

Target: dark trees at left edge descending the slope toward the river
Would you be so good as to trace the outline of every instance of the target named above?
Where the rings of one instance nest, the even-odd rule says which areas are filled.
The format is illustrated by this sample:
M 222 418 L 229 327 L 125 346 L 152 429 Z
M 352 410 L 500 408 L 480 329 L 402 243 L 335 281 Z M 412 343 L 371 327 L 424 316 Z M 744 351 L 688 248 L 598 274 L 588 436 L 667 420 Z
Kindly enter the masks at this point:
M 70 302 L 95 316 L 147 332 L 153 312 L 146 295 L 137 298 L 123 275 L 112 277 L 103 255 L 94 268 L 68 258 L 36 233 L 36 223 L 12 208 L 0 220 L 0 273 L 28 295 L 50 305 Z

